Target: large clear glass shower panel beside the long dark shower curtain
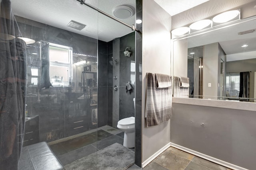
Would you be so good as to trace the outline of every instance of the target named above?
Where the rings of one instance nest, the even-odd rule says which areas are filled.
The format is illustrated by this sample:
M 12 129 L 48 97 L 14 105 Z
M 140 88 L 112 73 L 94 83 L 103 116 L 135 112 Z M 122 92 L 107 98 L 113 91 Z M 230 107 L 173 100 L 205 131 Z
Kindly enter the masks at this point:
M 11 3 L 26 43 L 23 147 L 46 142 L 66 169 L 96 168 L 98 12 L 77 0 Z

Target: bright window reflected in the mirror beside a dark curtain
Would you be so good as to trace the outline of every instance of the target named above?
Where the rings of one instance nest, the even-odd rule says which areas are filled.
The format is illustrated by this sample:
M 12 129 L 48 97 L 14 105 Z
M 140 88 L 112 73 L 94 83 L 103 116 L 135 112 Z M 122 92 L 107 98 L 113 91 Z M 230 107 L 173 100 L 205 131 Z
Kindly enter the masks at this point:
M 228 73 L 226 75 L 226 91 L 231 97 L 238 97 L 240 91 L 240 73 Z

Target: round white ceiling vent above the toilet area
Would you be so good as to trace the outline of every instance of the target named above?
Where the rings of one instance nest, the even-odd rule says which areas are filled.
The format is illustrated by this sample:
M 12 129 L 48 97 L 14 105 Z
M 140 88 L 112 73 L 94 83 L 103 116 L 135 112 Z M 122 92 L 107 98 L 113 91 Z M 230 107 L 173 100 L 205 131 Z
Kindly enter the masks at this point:
M 130 6 L 120 5 L 115 7 L 112 13 L 116 18 L 127 19 L 134 15 L 134 10 Z

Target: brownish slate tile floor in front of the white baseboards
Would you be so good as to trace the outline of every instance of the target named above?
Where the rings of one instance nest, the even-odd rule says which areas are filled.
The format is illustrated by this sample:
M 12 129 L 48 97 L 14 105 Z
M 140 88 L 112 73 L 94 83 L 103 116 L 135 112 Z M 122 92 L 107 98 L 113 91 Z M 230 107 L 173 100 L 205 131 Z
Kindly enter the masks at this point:
M 136 165 L 127 170 L 141 170 Z M 169 147 L 150 162 L 143 170 L 230 170 L 187 152 Z

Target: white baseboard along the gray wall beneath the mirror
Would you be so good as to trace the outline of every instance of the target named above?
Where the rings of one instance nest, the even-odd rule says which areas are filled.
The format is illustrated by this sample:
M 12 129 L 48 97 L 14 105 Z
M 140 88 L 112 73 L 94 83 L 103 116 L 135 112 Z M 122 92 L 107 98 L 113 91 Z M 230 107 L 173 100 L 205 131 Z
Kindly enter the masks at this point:
M 230 163 L 225 162 L 225 161 L 223 161 L 223 160 L 214 158 L 214 157 L 212 157 L 212 156 L 208 156 L 208 155 L 206 155 L 206 154 L 202 154 L 202 153 L 197 152 L 197 151 L 195 151 L 195 150 L 191 150 L 191 149 L 182 147 L 182 146 L 177 145 L 177 144 L 175 144 L 175 143 L 171 143 L 171 146 L 174 147 L 174 148 L 183 150 L 183 151 L 185 151 L 185 152 L 188 152 L 188 153 L 190 153 L 190 154 L 196 155 L 196 156 L 198 156 L 198 157 L 200 157 L 200 158 L 203 158 L 203 159 L 209 160 L 209 161 L 211 161 L 211 162 L 214 162 L 214 163 L 216 163 L 216 164 L 220 164 L 220 165 L 225 166 L 225 167 L 227 167 L 227 168 L 233 169 L 233 170 L 248 170 L 248 169 L 242 168 L 242 167 L 240 167 L 240 166 L 236 166 L 236 165 L 234 165 L 234 164 L 230 164 Z

